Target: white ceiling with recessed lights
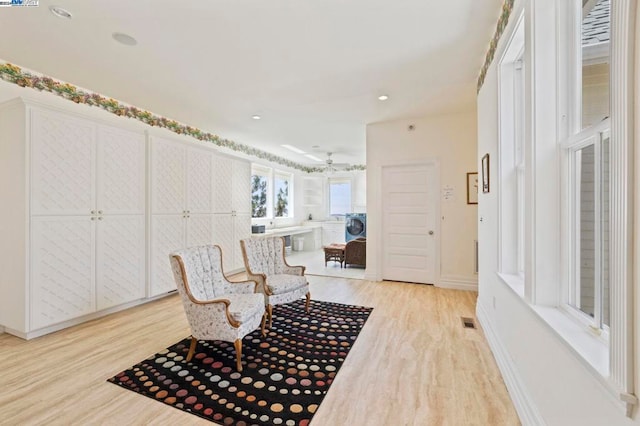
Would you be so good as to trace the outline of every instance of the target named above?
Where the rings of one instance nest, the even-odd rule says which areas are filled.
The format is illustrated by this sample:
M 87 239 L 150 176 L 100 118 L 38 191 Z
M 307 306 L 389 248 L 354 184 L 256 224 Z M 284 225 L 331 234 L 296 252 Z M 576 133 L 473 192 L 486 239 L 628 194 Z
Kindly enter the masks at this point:
M 501 5 L 40 0 L 0 8 L 0 59 L 299 163 L 280 145 L 364 164 L 366 124 L 473 108 Z

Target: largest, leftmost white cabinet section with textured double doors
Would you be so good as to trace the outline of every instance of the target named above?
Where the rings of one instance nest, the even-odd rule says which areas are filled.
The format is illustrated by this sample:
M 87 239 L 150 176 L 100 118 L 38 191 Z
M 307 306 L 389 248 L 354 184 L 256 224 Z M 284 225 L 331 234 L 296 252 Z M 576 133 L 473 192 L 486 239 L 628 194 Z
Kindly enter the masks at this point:
M 21 206 L 0 218 L 15 265 L 3 263 L 1 323 L 27 337 L 143 298 L 144 135 L 21 100 L 0 116 L 1 178 L 16 185 L 0 190 Z

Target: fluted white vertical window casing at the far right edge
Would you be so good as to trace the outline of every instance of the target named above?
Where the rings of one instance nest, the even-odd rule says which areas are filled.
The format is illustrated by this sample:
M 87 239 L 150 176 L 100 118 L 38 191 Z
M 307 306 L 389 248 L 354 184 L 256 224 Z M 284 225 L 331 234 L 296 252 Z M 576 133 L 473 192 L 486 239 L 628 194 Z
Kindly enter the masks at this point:
M 611 382 L 633 417 L 634 395 L 633 312 L 633 131 L 635 0 L 611 2 L 611 142 L 610 149 L 610 266 Z M 636 212 L 637 214 L 637 212 Z

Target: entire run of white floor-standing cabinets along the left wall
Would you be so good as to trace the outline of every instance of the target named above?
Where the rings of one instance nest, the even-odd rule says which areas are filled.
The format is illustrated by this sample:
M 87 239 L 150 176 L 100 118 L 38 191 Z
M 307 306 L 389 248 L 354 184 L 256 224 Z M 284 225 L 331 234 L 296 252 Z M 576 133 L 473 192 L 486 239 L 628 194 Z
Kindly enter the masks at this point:
M 186 246 L 242 267 L 250 163 L 100 114 L 0 106 L 0 329 L 35 337 L 174 290 Z

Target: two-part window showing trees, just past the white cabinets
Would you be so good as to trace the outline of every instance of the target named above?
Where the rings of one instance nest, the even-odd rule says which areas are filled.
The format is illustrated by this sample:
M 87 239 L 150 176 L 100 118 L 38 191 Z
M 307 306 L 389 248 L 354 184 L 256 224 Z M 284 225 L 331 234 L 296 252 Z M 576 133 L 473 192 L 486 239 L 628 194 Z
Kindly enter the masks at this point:
M 293 175 L 251 165 L 251 217 L 293 217 Z

